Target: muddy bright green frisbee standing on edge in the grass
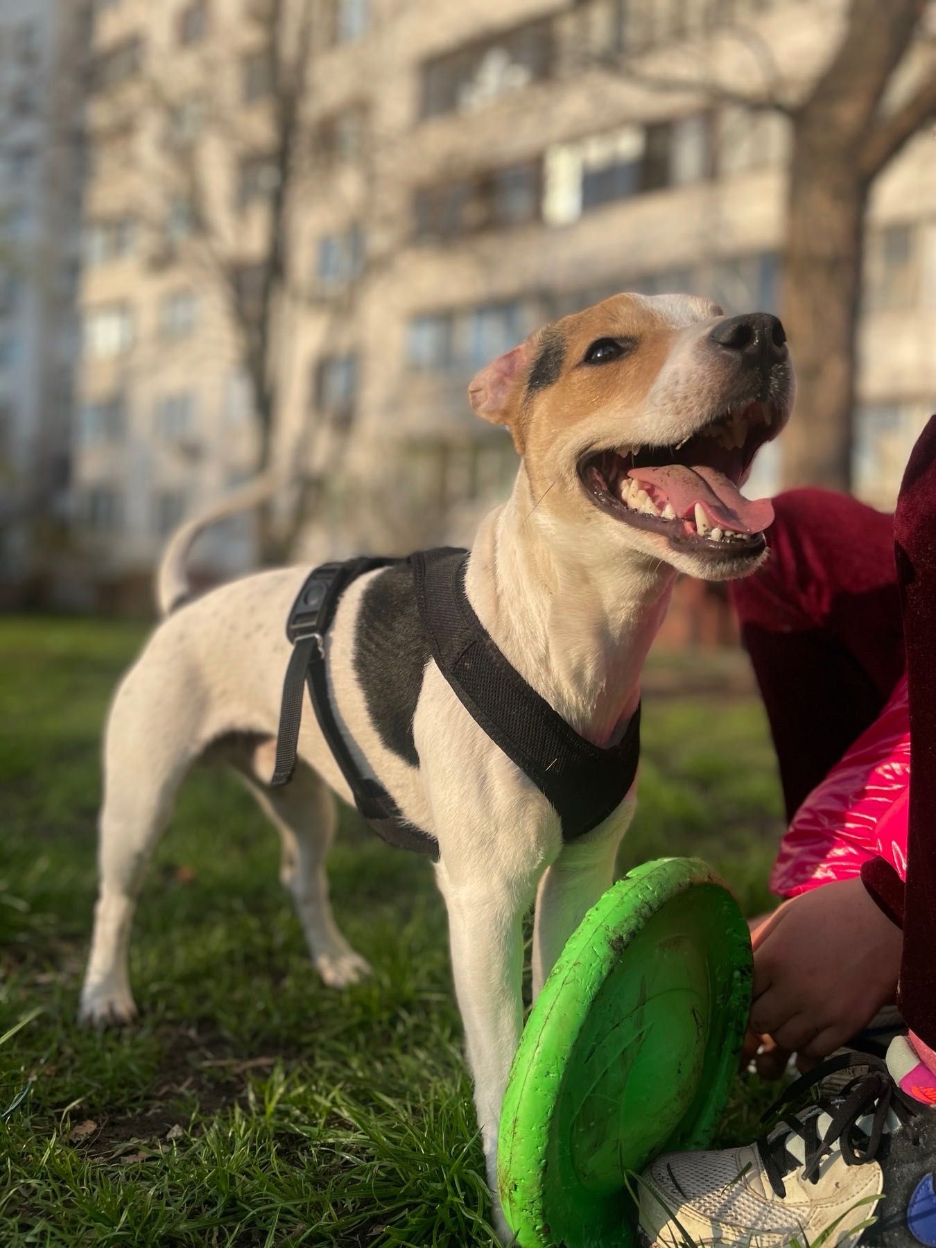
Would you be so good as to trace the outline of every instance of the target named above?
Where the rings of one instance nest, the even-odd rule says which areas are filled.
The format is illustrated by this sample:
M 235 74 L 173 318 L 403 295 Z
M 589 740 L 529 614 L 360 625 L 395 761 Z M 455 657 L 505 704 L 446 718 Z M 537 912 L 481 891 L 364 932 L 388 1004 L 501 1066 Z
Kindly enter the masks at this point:
M 698 859 L 619 880 L 569 937 L 500 1113 L 500 1201 L 520 1248 L 633 1248 L 635 1176 L 704 1148 L 738 1070 L 748 925 Z

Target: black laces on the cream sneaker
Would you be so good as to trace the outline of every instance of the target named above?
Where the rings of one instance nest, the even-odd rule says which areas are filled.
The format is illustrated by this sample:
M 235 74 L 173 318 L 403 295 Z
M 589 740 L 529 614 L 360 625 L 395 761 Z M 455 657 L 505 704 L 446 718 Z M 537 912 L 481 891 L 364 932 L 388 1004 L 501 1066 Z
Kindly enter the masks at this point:
M 861 1067 L 861 1073 L 849 1080 L 841 1090 L 820 1091 L 814 1094 L 809 1107 L 794 1112 L 792 1106 L 805 1092 L 836 1071 L 852 1066 Z M 799 1136 L 805 1146 L 802 1178 L 817 1183 L 822 1158 L 836 1144 L 846 1166 L 864 1166 L 877 1157 L 891 1111 L 901 1126 L 920 1111 L 917 1102 L 894 1082 L 886 1063 L 866 1053 L 840 1053 L 795 1080 L 766 1111 L 761 1122 L 784 1108 L 787 1112 L 780 1116 L 769 1134 L 756 1141 L 764 1172 L 780 1199 L 786 1196 L 784 1176 L 800 1164 L 800 1159 L 787 1148 L 791 1136 Z M 829 1114 L 831 1122 L 820 1136 L 819 1119 L 822 1113 Z M 872 1116 L 870 1131 L 857 1126 L 859 1119 L 869 1114 Z

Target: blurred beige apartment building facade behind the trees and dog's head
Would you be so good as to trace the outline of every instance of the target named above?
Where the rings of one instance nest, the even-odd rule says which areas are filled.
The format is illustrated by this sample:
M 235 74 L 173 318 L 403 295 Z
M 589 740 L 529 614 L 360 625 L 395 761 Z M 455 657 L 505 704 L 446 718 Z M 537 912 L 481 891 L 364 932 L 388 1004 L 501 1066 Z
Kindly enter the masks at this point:
M 72 524 L 104 579 L 149 574 L 178 519 L 252 470 L 233 278 L 193 238 L 178 170 L 211 170 L 215 228 L 233 277 L 250 281 L 280 176 L 276 74 L 258 42 L 276 11 L 276 0 L 97 2 Z M 739 85 L 807 82 L 844 4 L 316 0 L 314 11 L 307 168 L 271 347 L 273 457 L 317 483 L 300 554 L 466 542 L 515 468 L 509 438 L 469 412 L 477 368 L 618 290 L 775 306 L 787 122 L 661 80 L 673 50 L 691 49 Z M 887 507 L 936 402 L 932 134 L 880 178 L 871 218 L 856 490 Z M 775 488 L 776 454 L 756 474 L 751 489 Z M 210 534 L 205 569 L 248 567 L 252 534 L 250 518 Z

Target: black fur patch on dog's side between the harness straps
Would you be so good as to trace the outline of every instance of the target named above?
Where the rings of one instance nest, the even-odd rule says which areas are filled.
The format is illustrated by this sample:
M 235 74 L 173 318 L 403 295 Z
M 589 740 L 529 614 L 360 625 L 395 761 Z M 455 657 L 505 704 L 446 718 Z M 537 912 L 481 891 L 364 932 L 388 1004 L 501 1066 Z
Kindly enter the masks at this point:
M 394 564 L 378 573 L 361 599 L 354 674 L 377 735 L 411 766 L 419 766 L 413 715 L 429 661 L 413 589 L 413 569 Z

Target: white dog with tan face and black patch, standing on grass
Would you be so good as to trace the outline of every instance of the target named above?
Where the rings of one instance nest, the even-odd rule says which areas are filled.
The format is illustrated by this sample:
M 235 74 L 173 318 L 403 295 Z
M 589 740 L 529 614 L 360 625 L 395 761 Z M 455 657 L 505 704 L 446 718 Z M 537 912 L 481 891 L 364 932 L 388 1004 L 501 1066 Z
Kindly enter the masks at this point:
M 725 580 L 765 558 L 770 504 L 743 498 L 739 485 L 786 423 L 794 384 L 776 317 L 726 317 L 683 295 L 614 296 L 532 334 L 470 383 L 474 412 L 509 431 L 519 470 L 509 499 L 480 523 L 467 598 L 523 680 L 594 745 L 618 740 L 638 708 L 640 670 L 678 572 Z M 163 614 L 187 592 L 188 545 L 222 510 L 170 540 L 157 580 Z M 321 977 L 342 987 L 368 971 L 328 902 L 332 794 L 348 799 L 349 789 L 311 714 L 292 782 L 270 786 L 290 659 L 285 622 L 306 572 L 248 575 L 167 614 L 115 695 L 86 1022 L 135 1015 L 135 896 L 185 774 L 217 749 L 281 834 L 281 880 Z M 535 901 L 535 993 L 613 882 L 634 789 L 597 827 L 564 842 L 555 809 L 456 696 L 412 612 L 401 608 L 388 670 L 359 661 L 376 626 L 368 588 L 383 575 L 359 577 L 339 600 L 327 644 L 329 696 L 358 766 L 438 842 L 434 871 L 494 1216 L 505 1233 L 497 1132 L 522 1026 L 522 919 Z M 393 602 L 383 597 L 384 612 Z

